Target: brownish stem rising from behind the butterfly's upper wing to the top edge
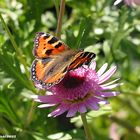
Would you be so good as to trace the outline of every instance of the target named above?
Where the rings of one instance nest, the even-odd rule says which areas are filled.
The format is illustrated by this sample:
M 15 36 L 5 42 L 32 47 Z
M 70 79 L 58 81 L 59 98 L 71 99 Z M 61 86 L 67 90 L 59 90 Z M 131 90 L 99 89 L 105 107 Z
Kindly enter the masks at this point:
M 65 11 L 65 0 L 61 0 L 59 11 L 60 12 L 59 12 L 59 16 L 58 16 L 58 23 L 57 23 L 57 29 L 56 29 L 56 36 L 58 38 L 60 38 L 60 34 L 61 34 L 62 18 L 63 18 L 64 11 Z

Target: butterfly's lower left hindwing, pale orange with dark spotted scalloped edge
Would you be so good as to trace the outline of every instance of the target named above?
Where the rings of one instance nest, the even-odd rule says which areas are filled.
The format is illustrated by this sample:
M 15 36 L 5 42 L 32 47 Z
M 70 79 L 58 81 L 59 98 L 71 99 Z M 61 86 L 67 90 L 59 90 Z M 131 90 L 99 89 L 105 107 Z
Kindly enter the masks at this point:
M 59 83 L 67 73 L 70 64 L 70 60 L 69 62 L 62 60 L 61 56 L 35 59 L 31 68 L 32 80 L 46 88 Z

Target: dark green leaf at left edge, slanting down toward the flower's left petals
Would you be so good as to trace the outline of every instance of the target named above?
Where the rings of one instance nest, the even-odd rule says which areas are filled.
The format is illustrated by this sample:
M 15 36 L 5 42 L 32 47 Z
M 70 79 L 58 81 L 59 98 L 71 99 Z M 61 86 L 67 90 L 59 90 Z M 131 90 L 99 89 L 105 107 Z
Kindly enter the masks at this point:
M 9 46 L 7 46 L 7 45 L 5 47 L 3 46 L 1 48 L 1 51 L 0 51 L 0 60 L 1 60 L 0 70 L 4 71 L 7 76 L 16 80 L 15 82 L 18 83 L 17 86 L 20 86 L 21 88 L 26 87 L 26 88 L 34 91 L 32 86 L 28 82 L 28 79 L 25 76 L 25 73 L 23 73 L 21 71 L 21 68 L 20 68 L 21 64 L 17 60 L 15 53 L 10 52 L 8 50 L 8 48 L 9 48 Z

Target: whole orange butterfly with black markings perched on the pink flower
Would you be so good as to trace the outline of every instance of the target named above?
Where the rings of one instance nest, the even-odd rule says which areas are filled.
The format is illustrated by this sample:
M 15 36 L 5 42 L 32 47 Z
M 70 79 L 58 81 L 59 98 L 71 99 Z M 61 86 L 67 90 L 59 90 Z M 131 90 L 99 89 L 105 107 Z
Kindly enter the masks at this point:
M 89 64 L 95 53 L 72 50 L 57 37 L 39 32 L 34 40 L 31 79 L 42 89 L 58 84 L 68 71 Z

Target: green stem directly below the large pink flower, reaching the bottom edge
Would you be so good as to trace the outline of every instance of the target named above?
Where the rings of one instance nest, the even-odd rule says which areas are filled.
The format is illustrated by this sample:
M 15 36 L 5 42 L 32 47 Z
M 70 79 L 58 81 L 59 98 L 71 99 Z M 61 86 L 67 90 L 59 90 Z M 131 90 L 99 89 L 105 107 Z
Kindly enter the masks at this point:
M 84 125 L 84 130 L 85 130 L 85 134 L 86 134 L 86 139 L 87 139 L 87 140 L 93 140 L 92 137 L 91 137 L 89 128 L 88 128 L 88 123 L 87 123 L 87 119 L 86 119 L 85 113 L 81 113 L 81 119 L 82 119 L 82 122 L 83 122 L 83 125 Z

